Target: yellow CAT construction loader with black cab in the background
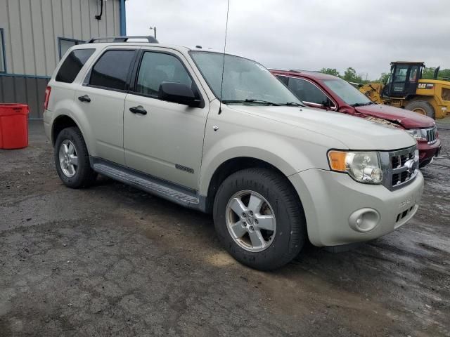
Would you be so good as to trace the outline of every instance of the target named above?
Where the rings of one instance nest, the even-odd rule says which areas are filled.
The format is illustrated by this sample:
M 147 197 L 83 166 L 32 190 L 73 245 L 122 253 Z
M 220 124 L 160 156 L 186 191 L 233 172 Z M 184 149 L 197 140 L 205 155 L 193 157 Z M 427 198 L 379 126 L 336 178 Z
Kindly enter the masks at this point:
M 391 62 L 387 82 L 364 84 L 359 88 L 375 103 L 404 107 L 435 119 L 450 113 L 450 81 L 422 79 L 423 62 Z

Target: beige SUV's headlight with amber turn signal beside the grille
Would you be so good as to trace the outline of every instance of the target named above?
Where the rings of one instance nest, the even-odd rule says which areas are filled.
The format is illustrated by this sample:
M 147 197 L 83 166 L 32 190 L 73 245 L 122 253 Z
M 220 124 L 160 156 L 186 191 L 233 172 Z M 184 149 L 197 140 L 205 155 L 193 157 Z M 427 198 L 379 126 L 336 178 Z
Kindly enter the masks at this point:
M 348 173 L 360 183 L 380 184 L 383 180 L 378 152 L 328 152 L 330 169 Z

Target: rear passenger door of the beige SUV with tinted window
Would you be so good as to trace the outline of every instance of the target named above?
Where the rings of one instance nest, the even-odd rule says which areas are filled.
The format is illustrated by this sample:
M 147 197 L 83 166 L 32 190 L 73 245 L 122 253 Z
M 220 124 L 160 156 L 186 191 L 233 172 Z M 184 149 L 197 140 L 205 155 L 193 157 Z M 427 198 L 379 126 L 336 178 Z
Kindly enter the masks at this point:
M 84 110 L 85 125 L 94 138 L 91 155 L 122 165 L 124 101 L 138 48 L 105 48 L 75 94 L 75 104 Z

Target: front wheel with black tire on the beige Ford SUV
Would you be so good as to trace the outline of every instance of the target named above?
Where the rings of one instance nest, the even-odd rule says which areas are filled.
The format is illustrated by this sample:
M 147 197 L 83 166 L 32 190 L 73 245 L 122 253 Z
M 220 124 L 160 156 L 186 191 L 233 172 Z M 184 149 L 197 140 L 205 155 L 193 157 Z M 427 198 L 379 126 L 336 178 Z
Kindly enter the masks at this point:
M 252 197 L 262 203 L 250 201 Z M 251 209 L 257 210 L 256 204 L 262 206 L 252 213 Z M 244 217 L 244 211 L 238 216 L 233 211 L 236 208 L 238 212 L 246 209 L 247 215 Z M 217 235 L 225 249 L 240 263 L 257 270 L 274 270 L 285 265 L 307 242 L 306 220 L 297 193 L 284 176 L 269 169 L 245 169 L 226 178 L 214 199 L 213 216 Z M 271 228 L 269 223 L 274 225 L 274 230 L 262 228 Z M 245 230 L 247 232 L 243 234 Z M 264 244 L 254 245 L 250 234 L 260 239 L 255 242 L 264 241 Z

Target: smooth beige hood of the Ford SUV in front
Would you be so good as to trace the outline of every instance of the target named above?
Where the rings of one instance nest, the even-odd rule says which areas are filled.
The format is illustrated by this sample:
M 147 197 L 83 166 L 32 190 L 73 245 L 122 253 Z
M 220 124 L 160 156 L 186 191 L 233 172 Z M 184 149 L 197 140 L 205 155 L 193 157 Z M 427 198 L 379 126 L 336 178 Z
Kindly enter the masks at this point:
M 229 108 L 320 133 L 352 150 L 397 150 L 416 145 L 416 140 L 399 128 L 340 112 L 325 112 L 310 107 L 229 105 Z M 338 147 L 340 144 L 330 146 Z

